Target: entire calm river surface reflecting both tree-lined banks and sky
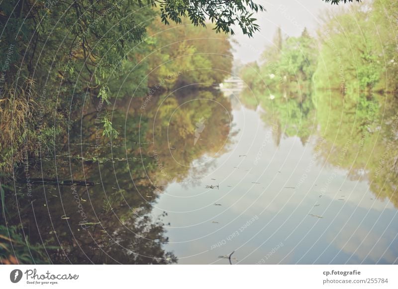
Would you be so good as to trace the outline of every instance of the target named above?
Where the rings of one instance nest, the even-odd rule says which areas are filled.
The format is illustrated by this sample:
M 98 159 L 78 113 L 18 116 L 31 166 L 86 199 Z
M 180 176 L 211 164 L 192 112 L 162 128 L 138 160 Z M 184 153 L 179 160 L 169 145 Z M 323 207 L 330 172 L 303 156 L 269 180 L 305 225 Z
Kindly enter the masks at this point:
M 118 99 L 109 143 L 85 108 L 8 207 L 53 263 L 397 263 L 397 98 L 272 96 Z

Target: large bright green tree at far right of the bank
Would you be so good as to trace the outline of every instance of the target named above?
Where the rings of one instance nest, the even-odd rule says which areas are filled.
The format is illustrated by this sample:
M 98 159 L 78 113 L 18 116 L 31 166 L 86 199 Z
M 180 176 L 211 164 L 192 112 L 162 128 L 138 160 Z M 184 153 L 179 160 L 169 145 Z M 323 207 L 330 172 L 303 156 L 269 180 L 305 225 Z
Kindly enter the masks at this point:
M 315 86 L 344 92 L 396 91 L 397 14 L 397 1 L 375 0 L 328 17 L 318 33 L 322 45 Z

